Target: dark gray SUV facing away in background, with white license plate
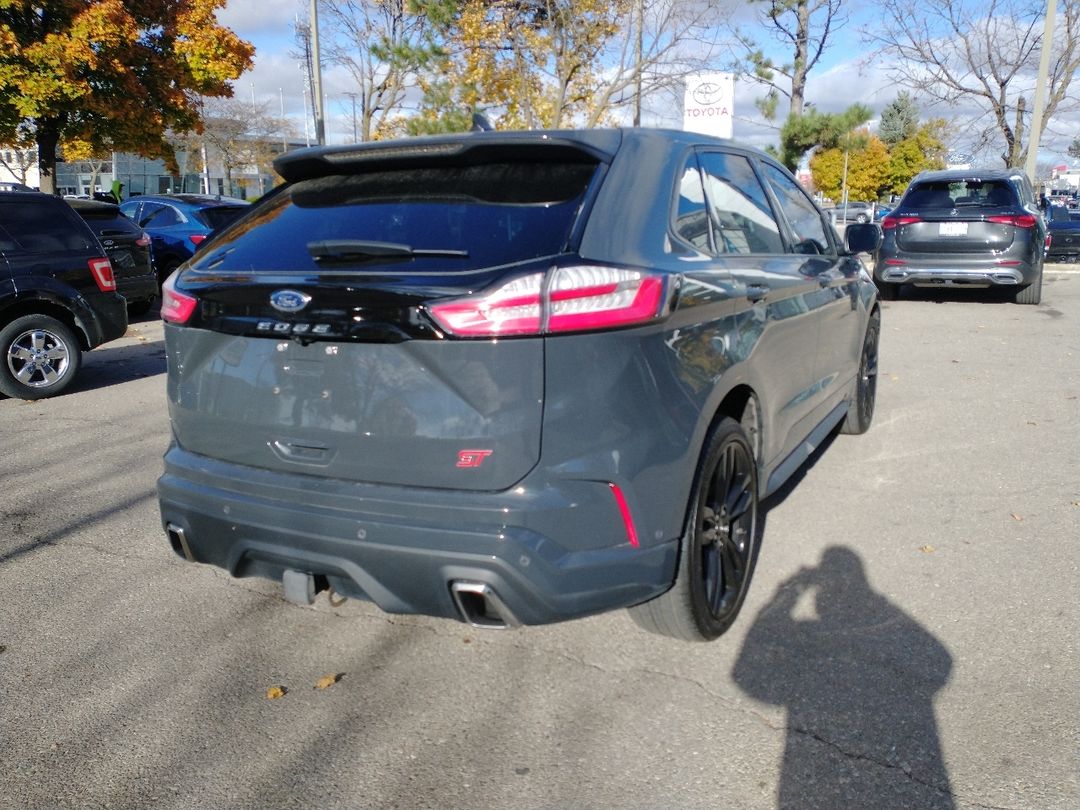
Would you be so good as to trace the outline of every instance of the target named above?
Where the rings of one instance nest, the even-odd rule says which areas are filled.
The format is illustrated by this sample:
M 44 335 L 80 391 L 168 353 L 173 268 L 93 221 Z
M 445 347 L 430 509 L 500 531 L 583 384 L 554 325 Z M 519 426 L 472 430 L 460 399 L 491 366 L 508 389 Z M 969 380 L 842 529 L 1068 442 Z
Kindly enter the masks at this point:
M 1042 299 L 1047 225 L 1018 170 L 922 172 L 881 220 L 874 280 L 881 298 L 903 284 L 1003 287 Z

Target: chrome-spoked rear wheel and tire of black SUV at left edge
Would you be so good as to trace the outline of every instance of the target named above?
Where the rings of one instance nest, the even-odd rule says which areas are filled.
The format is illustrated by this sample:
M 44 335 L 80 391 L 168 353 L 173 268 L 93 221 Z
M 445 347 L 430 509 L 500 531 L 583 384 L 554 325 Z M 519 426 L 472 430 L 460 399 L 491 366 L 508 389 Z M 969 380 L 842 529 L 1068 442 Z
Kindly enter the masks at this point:
M 49 315 L 23 315 L 0 329 L 0 391 L 19 400 L 55 396 L 82 364 L 75 333 Z

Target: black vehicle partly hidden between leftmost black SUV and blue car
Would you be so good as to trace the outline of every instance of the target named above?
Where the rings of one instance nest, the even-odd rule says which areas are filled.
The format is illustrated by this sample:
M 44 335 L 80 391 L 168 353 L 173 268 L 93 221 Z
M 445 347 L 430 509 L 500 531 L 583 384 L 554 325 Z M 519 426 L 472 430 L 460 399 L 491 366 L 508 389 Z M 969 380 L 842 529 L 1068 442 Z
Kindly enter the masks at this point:
M 117 292 L 127 300 L 127 311 L 141 315 L 158 297 L 158 274 L 150 256 L 150 234 L 125 217 L 116 203 L 68 200 L 94 231 L 112 262 Z

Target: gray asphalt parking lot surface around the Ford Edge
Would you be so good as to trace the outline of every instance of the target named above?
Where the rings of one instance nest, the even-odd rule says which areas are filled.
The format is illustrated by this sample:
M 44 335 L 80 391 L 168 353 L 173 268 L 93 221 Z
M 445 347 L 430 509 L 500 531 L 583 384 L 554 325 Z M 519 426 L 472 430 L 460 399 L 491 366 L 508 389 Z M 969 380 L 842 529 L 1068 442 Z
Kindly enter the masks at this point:
M 874 426 L 769 504 L 712 645 L 184 563 L 163 372 L 145 320 L 0 400 L 2 808 L 1080 807 L 1078 267 L 885 305 Z

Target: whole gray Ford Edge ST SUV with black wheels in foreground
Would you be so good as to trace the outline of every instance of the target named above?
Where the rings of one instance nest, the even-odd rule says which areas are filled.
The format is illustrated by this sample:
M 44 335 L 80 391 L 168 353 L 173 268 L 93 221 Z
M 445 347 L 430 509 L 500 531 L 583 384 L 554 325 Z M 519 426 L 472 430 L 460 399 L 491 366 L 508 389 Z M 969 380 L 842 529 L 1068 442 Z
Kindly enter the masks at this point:
M 680 132 L 289 153 L 163 288 L 177 554 L 477 626 L 731 624 L 759 499 L 874 411 L 880 315 L 792 175 Z

